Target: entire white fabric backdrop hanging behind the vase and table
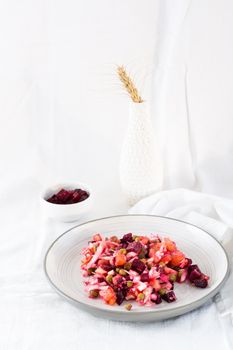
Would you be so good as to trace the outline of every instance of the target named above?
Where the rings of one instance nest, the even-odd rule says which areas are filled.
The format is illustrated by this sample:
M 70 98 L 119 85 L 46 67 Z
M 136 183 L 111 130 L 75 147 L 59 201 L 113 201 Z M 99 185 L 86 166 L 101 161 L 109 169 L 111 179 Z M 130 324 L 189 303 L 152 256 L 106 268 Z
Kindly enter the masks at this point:
M 230 0 L 2 1 L 2 183 L 118 188 L 128 101 L 114 69 L 126 64 L 146 98 L 153 77 L 164 189 L 232 197 L 232 15 Z

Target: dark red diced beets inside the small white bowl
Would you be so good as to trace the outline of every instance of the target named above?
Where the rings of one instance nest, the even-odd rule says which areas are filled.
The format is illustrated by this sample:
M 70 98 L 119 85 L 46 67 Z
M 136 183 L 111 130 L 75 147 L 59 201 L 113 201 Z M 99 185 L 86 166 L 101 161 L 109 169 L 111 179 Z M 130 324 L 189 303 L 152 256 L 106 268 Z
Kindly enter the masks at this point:
M 89 193 L 78 188 L 75 190 L 65 190 L 62 188 L 58 193 L 53 194 L 47 202 L 54 204 L 74 204 L 84 201 L 89 197 Z

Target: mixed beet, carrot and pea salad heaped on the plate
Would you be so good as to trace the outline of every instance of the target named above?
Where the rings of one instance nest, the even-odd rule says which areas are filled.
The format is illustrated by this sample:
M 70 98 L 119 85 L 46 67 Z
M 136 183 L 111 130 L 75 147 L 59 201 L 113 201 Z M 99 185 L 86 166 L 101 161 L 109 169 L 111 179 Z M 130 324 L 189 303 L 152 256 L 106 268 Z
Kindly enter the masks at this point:
M 95 234 L 82 251 L 85 290 L 90 298 L 131 310 L 131 301 L 151 306 L 176 300 L 175 283 L 206 288 L 209 277 L 170 238 Z

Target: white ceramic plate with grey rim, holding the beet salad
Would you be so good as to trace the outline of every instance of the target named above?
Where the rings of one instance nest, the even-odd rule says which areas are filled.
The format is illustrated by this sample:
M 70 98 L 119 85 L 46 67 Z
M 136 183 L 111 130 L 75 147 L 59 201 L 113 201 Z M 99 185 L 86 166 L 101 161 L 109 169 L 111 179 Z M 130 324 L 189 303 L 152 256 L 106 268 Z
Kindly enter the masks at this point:
M 109 306 L 100 299 L 90 299 L 84 292 L 80 271 L 81 250 L 96 232 L 106 236 L 125 233 L 148 235 L 158 233 L 170 237 L 178 247 L 210 276 L 205 289 L 188 284 L 176 284 L 177 300 L 153 307 L 133 304 L 131 311 L 121 306 Z M 150 215 L 124 215 L 90 221 L 72 228 L 50 246 L 44 261 L 45 273 L 58 293 L 77 306 L 98 317 L 123 321 L 152 321 L 178 316 L 191 311 L 213 297 L 227 279 L 227 255 L 210 234 L 202 229 L 171 218 Z

